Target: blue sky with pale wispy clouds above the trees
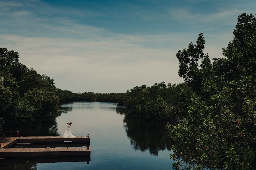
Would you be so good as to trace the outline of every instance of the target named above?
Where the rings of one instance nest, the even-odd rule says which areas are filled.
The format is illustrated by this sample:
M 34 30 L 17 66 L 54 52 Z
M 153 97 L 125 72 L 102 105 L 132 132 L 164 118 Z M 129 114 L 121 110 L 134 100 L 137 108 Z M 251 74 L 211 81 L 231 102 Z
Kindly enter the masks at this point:
M 1 1 L 0 47 L 73 92 L 180 83 L 176 53 L 200 32 L 222 57 L 237 16 L 256 1 Z

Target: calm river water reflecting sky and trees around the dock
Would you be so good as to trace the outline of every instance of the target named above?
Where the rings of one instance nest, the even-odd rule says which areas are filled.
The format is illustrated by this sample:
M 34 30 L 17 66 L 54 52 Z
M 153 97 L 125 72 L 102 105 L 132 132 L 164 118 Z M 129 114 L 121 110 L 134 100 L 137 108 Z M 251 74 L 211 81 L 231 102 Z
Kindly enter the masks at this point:
M 63 104 L 37 128 L 19 129 L 20 135 L 62 136 L 70 121 L 73 135 L 90 134 L 89 164 L 83 157 L 15 159 L 0 161 L 1 169 L 172 169 L 172 143 L 164 124 L 131 118 L 127 108 L 115 103 Z

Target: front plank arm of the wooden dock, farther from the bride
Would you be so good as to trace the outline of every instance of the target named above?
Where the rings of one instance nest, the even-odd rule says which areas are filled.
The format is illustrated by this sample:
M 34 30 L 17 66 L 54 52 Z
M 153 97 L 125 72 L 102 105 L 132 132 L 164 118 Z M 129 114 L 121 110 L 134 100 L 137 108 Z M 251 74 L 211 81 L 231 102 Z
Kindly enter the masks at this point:
M 0 157 L 90 155 L 87 148 L 2 148 Z

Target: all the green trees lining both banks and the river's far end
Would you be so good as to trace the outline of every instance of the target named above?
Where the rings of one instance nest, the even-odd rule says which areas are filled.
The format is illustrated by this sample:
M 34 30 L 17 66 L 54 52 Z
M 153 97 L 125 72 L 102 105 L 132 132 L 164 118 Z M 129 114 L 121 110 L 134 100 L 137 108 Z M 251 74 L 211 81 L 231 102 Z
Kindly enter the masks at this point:
M 185 83 L 135 86 L 125 93 L 73 93 L 19 63 L 0 48 L 0 130 L 36 125 L 60 103 L 102 101 L 125 105 L 133 115 L 166 123 L 174 169 L 253 169 L 256 138 L 256 19 L 238 16 L 234 39 L 212 61 L 195 44 L 176 54 Z

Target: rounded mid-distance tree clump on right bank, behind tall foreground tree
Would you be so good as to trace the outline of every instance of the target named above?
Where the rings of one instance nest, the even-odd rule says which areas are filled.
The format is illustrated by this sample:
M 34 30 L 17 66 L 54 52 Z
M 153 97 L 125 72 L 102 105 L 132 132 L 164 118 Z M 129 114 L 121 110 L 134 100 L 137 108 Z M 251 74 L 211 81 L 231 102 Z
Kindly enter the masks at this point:
M 136 86 L 125 94 L 125 106 L 133 113 L 154 121 L 175 121 L 184 117 L 190 103 L 191 88 L 185 83 L 155 83 Z

